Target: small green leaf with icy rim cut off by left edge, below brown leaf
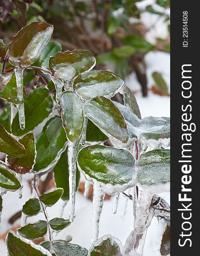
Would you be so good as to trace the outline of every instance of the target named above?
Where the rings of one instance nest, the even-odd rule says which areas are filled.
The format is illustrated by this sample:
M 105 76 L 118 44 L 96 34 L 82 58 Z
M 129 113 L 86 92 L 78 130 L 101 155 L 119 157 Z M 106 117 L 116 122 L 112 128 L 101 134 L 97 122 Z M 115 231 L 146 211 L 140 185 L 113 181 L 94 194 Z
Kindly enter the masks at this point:
M 0 163 L 0 187 L 8 190 L 18 190 L 22 188 L 14 172 L 3 163 Z

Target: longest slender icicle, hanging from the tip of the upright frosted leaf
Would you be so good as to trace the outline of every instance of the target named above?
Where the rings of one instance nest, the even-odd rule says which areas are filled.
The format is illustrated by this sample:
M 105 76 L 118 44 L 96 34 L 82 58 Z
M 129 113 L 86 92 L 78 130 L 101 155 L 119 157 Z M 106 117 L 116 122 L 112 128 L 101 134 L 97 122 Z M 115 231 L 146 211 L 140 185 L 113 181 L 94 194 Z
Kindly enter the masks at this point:
M 69 185 L 70 185 L 70 222 L 74 220 L 75 213 L 75 185 L 76 185 L 76 155 L 78 142 L 68 141 L 68 164 L 69 164 Z

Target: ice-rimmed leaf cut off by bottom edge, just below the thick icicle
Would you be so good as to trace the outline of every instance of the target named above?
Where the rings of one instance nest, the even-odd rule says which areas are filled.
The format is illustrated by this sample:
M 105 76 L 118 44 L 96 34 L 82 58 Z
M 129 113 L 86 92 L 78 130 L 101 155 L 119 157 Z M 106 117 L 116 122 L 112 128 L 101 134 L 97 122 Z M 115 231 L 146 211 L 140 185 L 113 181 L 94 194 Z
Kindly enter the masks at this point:
M 89 254 L 90 256 L 125 256 L 121 241 L 111 235 L 102 236 L 93 242 Z

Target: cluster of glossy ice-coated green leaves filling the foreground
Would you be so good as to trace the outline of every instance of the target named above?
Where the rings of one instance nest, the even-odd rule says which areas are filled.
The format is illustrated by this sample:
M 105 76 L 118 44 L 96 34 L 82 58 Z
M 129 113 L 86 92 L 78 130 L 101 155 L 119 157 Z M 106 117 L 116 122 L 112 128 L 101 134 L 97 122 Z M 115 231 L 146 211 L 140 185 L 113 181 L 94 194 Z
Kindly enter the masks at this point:
M 7 156 L 0 162 L 0 187 L 2 194 L 20 190 L 18 176 L 32 172 L 35 197 L 26 202 L 22 213 L 25 219 L 39 212 L 45 217 L 34 224 L 25 221 L 18 235 L 8 234 L 9 256 L 21 255 L 22 250 L 26 255 L 60 256 L 62 250 L 66 255 L 87 255 L 85 248 L 52 239 L 52 232 L 64 229 L 73 220 L 80 177 L 76 164 L 87 180 L 117 185 L 118 192 L 136 184 L 157 186 L 163 192 L 160 185 L 169 182 L 170 153 L 164 149 L 170 137 L 169 119 L 141 119 L 136 100 L 120 76 L 104 70 L 91 72 L 96 64 L 93 54 L 86 50 L 61 52 L 59 43 L 49 42 L 52 32 L 52 25 L 32 22 L 8 46 L 1 41 L 5 72 L 0 74 L 0 98 L 4 99 L 0 151 Z M 9 70 L 4 70 L 8 66 Z M 125 105 L 110 99 L 119 91 Z M 55 111 L 58 115 L 53 116 Z M 35 139 L 33 131 L 42 122 L 46 123 Z M 102 145 L 106 140 L 112 146 Z M 145 152 L 142 145 L 151 151 Z M 38 181 L 52 169 L 57 189 L 40 194 Z M 70 220 L 49 220 L 46 207 L 59 198 L 70 199 Z M 32 243 L 45 235 L 43 244 Z M 118 245 L 110 249 L 109 243 L 113 246 L 108 239 L 102 250 L 114 256 Z M 90 255 L 101 255 L 95 248 Z

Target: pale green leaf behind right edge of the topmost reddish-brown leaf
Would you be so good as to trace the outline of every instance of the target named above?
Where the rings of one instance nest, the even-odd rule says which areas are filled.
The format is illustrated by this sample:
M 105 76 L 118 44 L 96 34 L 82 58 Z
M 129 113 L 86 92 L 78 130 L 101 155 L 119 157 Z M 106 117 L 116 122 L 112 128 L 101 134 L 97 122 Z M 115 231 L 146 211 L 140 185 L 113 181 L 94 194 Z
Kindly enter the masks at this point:
M 34 66 L 39 66 L 45 69 L 49 69 L 49 58 L 55 55 L 57 52 L 62 50 L 61 44 L 55 41 L 51 41 L 41 52 L 41 55 L 38 61 L 34 64 Z

